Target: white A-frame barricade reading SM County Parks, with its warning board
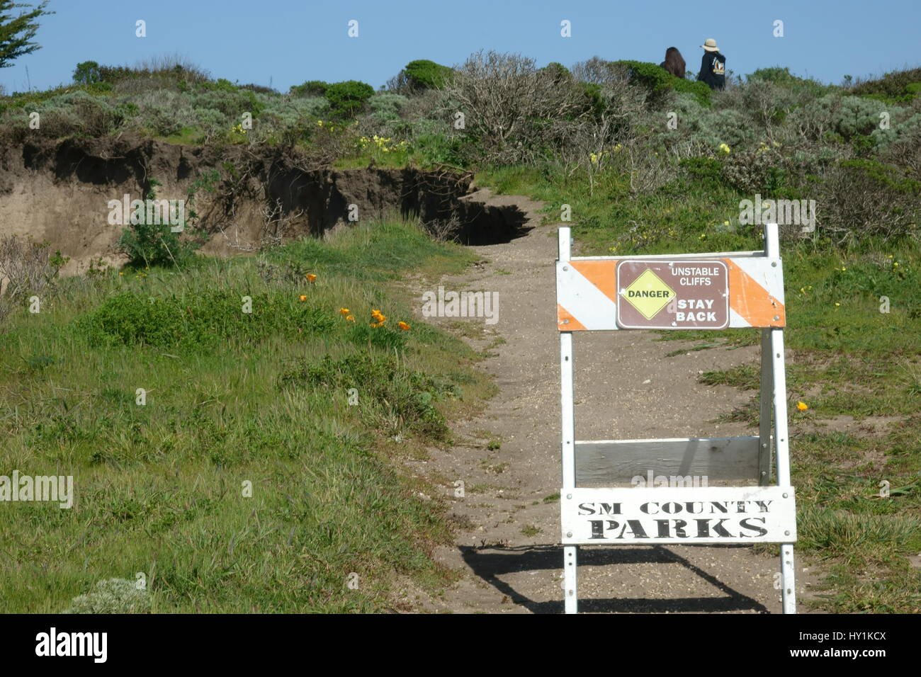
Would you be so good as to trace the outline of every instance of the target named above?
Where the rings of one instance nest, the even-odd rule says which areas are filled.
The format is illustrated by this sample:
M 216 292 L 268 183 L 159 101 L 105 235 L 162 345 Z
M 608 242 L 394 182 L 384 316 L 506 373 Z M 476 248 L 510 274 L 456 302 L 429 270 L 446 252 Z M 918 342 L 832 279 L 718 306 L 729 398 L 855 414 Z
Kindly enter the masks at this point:
M 781 543 L 783 611 L 796 613 L 797 519 L 790 485 L 784 276 L 776 224 L 764 227 L 764 251 L 576 258 L 569 228 L 560 228 L 556 304 L 565 613 L 577 613 L 579 545 L 653 543 Z M 758 437 L 577 440 L 574 332 L 727 327 L 762 332 Z M 772 438 L 775 484 L 770 482 Z M 647 474 L 677 478 L 680 485 L 614 486 Z M 701 476 L 756 484 L 700 486 L 694 480 Z

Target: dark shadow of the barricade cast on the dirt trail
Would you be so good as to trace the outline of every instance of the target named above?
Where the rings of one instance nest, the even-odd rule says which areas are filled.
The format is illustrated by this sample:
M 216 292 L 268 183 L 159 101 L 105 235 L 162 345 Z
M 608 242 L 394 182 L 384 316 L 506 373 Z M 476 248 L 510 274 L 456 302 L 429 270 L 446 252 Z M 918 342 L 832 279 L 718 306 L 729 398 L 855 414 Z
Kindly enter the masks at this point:
M 688 547 L 694 547 L 689 545 Z M 745 547 L 743 545 L 708 545 L 707 547 Z M 534 545 L 519 547 L 472 547 L 461 546 L 461 556 L 467 566 L 479 578 L 497 589 L 513 604 L 519 604 L 531 613 L 562 613 L 562 600 L 536 601 L 530 599 L 512 587 L 503 577 L 525 571 L 543 569 L 559 571 L 560 545 Z M 579 566 L 612 566 L 635 564 L 677 564 L 683 566 L 698 577 L 703 578 L 714 588 L 723 593 L 721 597 L 684 597 L 667 600 L 647 598 L 636 599 L 581 599 L 580 611 L 587 613 L 716 613 L 716 612 L 754 612 L 769 613 L 767 608 L 756 601 L 732 589 L 717 577 L 694 566 L 687 559 L 660 545 L 630 548 L 585 548 L 580 553 Z M 614 576 L 616 577 L 616 569 Z M 556 590 L 554 590 L 556 592 Z

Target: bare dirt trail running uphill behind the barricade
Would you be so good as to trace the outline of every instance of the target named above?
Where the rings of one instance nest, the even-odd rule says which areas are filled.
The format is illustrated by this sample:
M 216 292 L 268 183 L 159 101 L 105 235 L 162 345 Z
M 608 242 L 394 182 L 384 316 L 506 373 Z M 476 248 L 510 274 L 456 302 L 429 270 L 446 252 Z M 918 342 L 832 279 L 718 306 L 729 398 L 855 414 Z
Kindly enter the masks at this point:
M 461 529 L 437 561 L 460 572 L 457 584 L 420 610 L 455 613 L 561 613 L 562 548 L 558 545 L 560 477 L 559 338 L 555 331 L 557 225 L 540 226 L 541 204 L 487 191 L 487 204 L 518 204 L 527 235 L 475 248 L 484 263 L 444 278 L 446 290 L 498 292 L 498 322 L 485 337 L 484 369 L 499 393 L 484 414 L 454 426 L 458 446 L 432 449 L 414 471 L 464 483 L 446 486 Z M 578 242 L 575 242 L 578 254 Z M 430 319 L 432 321 L 435 319 Z M 436 320 L 437 321 L 437 320 Z M 446 322 L 447 320 L 441 320 Z M 464 319 L 483 322 L 482 319 Z M 447 321 L 449 322 L 449 321 Z M 454 322 L 457 322 L 456 320 Z M 455 325 L 456 326 L 456 325 Z M 630 439 L 752 435 L 743 424 L 714 424 L 749 394 L 705 387 L 701 371 L 752 361 L 753 346 L 718 347 L 666 357 L 686 342 L 656 341 L 651 332 L 577 335 L 576 438 Z M 757 434 L 756 432 L 753 434 Z M 491 439 L 500 442 L 489 445 Z M 776 546 L 779 551 L 779 546 Z M 772 546 L 773 552 L 774 546 Z M 579 611 L 627 613 L 780 613 L 778 558 L 749 546 L 621 546 L 579 549 Z M 815 578 L 797 561 L 800 613 Z

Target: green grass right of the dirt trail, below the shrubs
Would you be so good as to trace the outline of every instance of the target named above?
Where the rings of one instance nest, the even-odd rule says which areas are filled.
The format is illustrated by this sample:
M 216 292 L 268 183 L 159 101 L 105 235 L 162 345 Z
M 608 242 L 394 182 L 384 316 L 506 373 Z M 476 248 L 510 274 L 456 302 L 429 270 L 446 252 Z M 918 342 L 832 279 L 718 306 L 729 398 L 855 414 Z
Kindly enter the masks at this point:
M 578 255 L 763 247 L 760 233 L 738 226 L 739 194 L 688 177 L 638 195 L 616 171 L 597 174 L 593 192 L 584 176 L 554 169 L 486 170 L 477 182 L 546 201 L 551 222 L 569 204 Z M 861 239 L 836 247 L 819 228 L 820 239 L 781 247 L 797 548 L 826 575 L 810 603 L 838 613 L 918 613 L 921 570 L 908 558 L 921 552 L 921 245 Z M 715 344 L 757 344 L 759 333 L 660 338 L 697 342 L 669 354 L 676 356 Z M 752 391 L 749 403 L 721 418 L 756 426 L 759 374 L 754 363 L 700 380 Z M 809 409 L 799 411 L 799 402 Z M 881 482 L 888 496 L 880 496 Z

